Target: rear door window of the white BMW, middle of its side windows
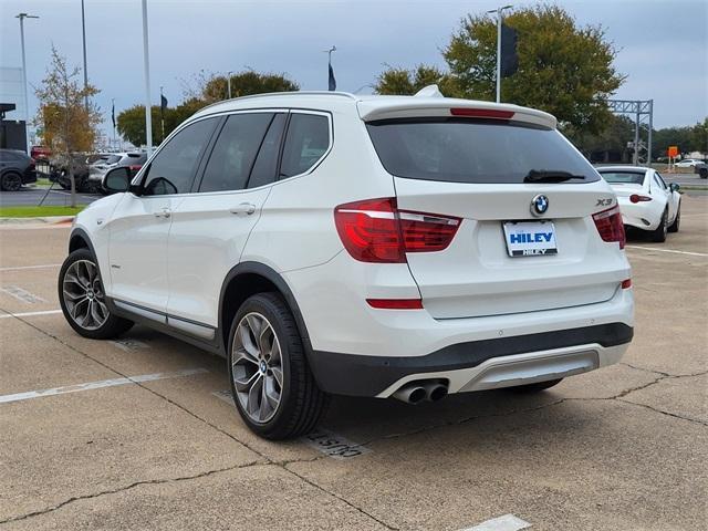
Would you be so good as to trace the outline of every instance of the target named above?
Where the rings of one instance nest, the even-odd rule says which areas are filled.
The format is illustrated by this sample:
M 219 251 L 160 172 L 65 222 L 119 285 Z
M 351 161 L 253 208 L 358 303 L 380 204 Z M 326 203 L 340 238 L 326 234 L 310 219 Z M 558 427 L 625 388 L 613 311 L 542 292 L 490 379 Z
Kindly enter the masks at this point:
M 229 116 L 209 157 L 199 191 L 244 188 L 263 135 L 272 119 L 271 113 Z

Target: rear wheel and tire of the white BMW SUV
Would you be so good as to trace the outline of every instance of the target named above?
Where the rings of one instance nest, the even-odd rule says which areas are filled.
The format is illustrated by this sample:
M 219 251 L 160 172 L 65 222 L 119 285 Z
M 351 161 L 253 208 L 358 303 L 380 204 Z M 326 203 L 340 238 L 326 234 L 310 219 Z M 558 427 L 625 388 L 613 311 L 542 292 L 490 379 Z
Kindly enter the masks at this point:
M 229 332 L 228 366 L 233 403 L 261 437 L 308 434 L 326 410 L 329 395 L 317 387 L 295 320 L 278 293 L 259 293 L 243 302 Z

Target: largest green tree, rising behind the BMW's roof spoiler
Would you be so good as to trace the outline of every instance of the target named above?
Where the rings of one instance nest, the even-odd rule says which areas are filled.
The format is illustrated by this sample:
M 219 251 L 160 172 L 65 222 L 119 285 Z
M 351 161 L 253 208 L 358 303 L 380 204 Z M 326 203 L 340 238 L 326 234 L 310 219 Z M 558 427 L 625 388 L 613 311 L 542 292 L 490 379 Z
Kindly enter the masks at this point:
M 602 27 L 579 28 L 568 12 L 552 6 L 516 10 L 504 23 L 519 35 L 519 70 L 502 80 L 502 101 L 541 108 L 577 131 L 601 132 L 611 117 L 606 100 L 625 80 L 612 64 L 616 51 L 605 41 Z M 449 69 L 442 79 L 451 77 L 446 85 L 452 88 L 449 95 L 494 100 L 497 24 L 492 19 L 462 19 L 442 56 Z M 387 80 L 387 74 L 379 75 L 379 81 Z M 385 86 L 379 82 L 377 88 Z

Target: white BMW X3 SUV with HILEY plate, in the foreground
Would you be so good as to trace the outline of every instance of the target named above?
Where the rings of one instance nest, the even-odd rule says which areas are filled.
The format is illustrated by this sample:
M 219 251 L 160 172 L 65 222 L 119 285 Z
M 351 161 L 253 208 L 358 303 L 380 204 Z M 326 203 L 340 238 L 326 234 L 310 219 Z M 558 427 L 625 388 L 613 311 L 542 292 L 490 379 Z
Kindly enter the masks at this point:
M 632 341 L 617 200 L 540 111 L 241 97 L 128 175 L 75 219 L 69 324 L 107 339 L 139 322 L 226 356 L 263 437 L 311 430 L 330 394 L 539 391 Z

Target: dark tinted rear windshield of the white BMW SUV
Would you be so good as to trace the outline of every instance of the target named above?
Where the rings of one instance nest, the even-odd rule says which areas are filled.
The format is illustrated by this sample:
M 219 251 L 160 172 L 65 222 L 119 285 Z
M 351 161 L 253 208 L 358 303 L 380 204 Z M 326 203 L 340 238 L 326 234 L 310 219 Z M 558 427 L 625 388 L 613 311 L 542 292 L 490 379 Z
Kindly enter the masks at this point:
M 467 118 L 386 119 L 366 124 L 378 157 L 397 177 L 448 183 L 519 184 L 531 170 L 566 171 L 568 184 L 600 180 L 555 129 Z

